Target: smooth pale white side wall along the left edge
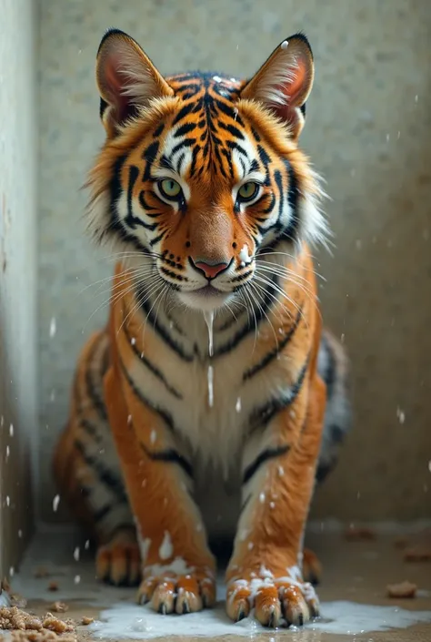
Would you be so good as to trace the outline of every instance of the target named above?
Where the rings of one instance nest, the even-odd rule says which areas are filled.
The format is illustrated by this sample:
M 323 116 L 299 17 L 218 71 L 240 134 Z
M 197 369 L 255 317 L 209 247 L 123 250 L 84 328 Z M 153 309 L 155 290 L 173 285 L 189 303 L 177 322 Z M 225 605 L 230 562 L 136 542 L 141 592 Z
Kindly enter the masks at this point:
M 0 0 L 0 576 L 17 563 L 32 523 L 36 9 L 33 0 Z

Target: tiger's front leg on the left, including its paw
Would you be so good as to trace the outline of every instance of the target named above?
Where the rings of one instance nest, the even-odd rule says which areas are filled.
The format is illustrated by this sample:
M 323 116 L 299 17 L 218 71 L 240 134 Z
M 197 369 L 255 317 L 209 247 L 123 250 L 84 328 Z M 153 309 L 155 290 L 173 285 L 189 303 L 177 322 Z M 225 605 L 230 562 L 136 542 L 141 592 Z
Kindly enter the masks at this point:
M 163 614 L 213 606 L 215 560 L 190 494 L 193 469 L 186 453 L 115 366 L 105 377 L 105 400 L 141 549 L 138 601 Z

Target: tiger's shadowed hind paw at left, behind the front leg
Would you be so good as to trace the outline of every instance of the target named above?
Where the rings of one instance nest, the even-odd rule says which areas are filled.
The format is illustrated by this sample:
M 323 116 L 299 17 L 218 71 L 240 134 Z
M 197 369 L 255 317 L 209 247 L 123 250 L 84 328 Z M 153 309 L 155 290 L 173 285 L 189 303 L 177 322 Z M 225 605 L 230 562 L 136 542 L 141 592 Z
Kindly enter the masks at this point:
M 108 544 L 99 546 L 95 573 L 106 584 L 137 586 L 141 578 L 141 555 L 135 534 L 121 531 Z

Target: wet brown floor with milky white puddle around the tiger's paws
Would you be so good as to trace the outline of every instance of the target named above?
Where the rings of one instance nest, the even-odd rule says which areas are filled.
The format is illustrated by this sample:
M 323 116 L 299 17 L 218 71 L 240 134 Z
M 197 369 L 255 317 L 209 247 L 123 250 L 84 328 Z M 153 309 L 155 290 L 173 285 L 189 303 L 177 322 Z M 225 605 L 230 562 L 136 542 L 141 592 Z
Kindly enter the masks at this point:
M 307 545 L 316 551 L 324 566 L 318 587 L 323 620 L 302 631 L 262 632 L 251 620 L 241 627 L 231 624 L 223 609 L 223 586 L 216 611 L 156 616 L 145 607 L 135 606 L 135 591 L 96 583 L 90 552 L 71 532 L 37 535 L 14 576 L 13 589 L 28 599 L 27 610 L 42 613 L 55 600 L 62 600 L 69 606 L 67 617 L 94 617 L 92 627 L 78 627 L 78 640 L 169 640 L 175 633 L 175 642 L 202 640 L 202 636 L 231 642 L 247 637 L 271 642 L 430 642 L 431 562 L 406 562 L 405 551 L 396 547 L 396 539 L 396 533 L 386 533 L 372 540 L 352 542 L 342 531 L 327 532 L 325 525 L 323 532 L 308 535 Z M 411 535 L 407 539 L 415 543 Z M 40 566 L 50 576 L 36 578 L 35 569 Z M 388 584 L 405 580 L 416 584 L 415 598 L 386 596 Z M 55 592 L 48 590 L 52 582 L 58 588 Z

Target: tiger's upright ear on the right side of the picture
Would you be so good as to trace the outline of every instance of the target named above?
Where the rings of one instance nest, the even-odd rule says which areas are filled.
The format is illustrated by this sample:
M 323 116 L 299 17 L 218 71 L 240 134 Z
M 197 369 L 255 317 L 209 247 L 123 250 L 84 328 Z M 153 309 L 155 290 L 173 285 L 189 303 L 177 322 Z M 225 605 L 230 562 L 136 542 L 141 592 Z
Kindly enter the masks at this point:
M 257 100 L 288 123 L 292 138 L 304 127 L 315 66 L 306 36 L 284 40 L 241 92 L 242 98 Z

